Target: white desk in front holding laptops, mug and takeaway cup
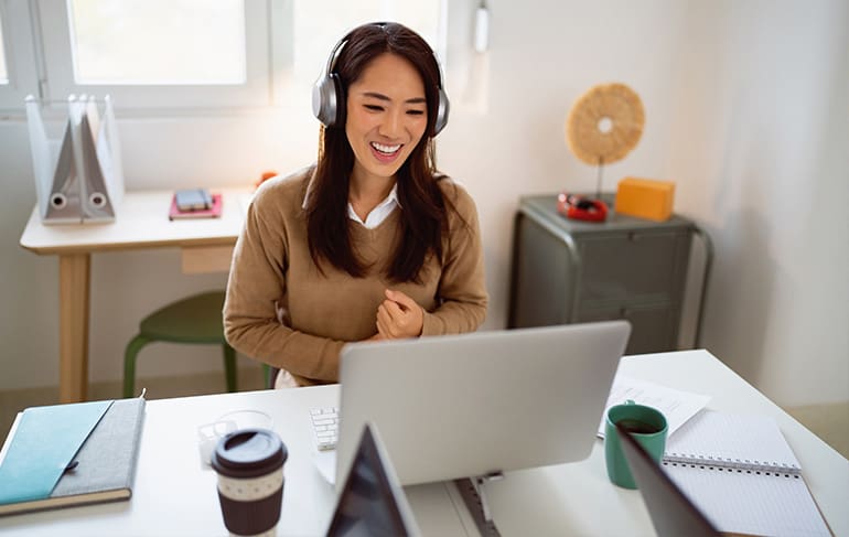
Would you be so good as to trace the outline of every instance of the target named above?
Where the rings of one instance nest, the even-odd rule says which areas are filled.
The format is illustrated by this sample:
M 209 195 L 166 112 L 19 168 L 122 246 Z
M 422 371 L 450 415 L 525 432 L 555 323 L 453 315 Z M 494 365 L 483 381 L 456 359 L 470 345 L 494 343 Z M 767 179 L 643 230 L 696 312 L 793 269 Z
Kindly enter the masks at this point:
M 705 351 L 623 358 L 635 378 L 712 396 L 709 408 L 772 416 L 803 466 L 812 493 L 836 535 L 849 535 L 849 462 Z M 278 535 L 321 535 L 334 504 L 331 486 L 311 462 L 314 452 L 307 411 L 337 400 L 336 386 L 153 400 L 142 436 L 132 500 L 0 518 L 0 534 L 17 535 L 226 535 L 215 475 L 201 470 L 198 425 L 234 409 L 269 412 L 289 449 L 283 512 Z M 441 483 L 408 487 L 424 535 L 464 535 Z M 504 536 L 652 535 L 637 491 L 608 481 L 601 440 L 591 457 L 573 464 L 511 472 L 486 485 Z

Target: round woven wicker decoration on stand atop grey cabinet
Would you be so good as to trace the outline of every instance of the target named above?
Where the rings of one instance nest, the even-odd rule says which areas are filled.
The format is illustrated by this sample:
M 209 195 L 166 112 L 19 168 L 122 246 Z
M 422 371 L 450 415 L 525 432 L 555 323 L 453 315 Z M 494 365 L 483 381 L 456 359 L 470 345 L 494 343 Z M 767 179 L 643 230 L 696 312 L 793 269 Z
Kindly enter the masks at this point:
M 636 147 L 644 123 L 640 96 L 620 83 L 591 87 L 569 110 L 566 142 L 578 159 L 599 167 L 599 196 L 602 167 L 624 159 Z

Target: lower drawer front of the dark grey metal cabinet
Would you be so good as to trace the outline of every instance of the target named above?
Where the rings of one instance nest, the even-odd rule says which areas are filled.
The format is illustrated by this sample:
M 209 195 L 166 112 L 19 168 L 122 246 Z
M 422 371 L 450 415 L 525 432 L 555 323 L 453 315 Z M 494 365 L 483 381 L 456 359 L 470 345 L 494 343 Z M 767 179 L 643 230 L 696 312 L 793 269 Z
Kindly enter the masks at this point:
M 669 305 L 637 305 L 582 310 L 577 322 L 631 322 L 631 337 L 625 354 L 645 354 L 675 351 L 678 343 L 678 309 Z

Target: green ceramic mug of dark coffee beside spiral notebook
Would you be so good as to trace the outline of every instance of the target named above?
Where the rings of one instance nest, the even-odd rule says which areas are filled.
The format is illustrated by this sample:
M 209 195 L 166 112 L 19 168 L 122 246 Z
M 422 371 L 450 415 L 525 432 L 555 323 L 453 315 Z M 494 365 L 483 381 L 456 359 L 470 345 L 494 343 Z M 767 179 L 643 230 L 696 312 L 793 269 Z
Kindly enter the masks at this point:
M 664 455 L 666 436 L 669 427 L 666 417 L 656 408 L 636 405 L 628 399 L 624 405 L 615 405 L 604 416 L 604 459 L 608 463 L 608 477 L 619 486 L 636 488 L 631 475 L 625 454 L 622 452 L 616 423 L 621 423 L 631 436 L 657 462 Z

